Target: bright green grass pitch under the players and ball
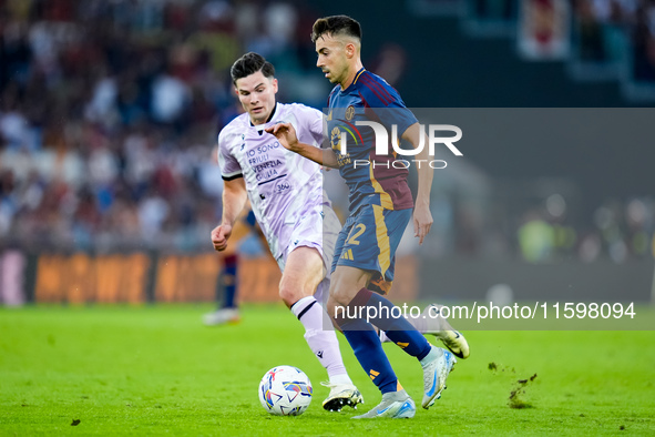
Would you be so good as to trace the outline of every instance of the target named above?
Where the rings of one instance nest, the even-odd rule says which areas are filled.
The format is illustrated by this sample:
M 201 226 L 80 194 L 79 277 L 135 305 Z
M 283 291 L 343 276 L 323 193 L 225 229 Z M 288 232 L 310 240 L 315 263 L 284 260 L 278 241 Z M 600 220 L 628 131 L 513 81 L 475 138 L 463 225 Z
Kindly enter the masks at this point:
M 655 332 L 467 332 L 471 357 L 430 410 L 351 420 L 321 409 L 326 375 L 286 308 L 246 306 L 240 324 L 205 327 L 209 309 L 0 308 L 0 435 L 655 434 Z M 367 410 L 380 395 L 339 337 Z M 385 348 L 420 404 L 420 366 Z M 303 416 L 259 405 L 260 377 L 282 364 L 313 382 Z

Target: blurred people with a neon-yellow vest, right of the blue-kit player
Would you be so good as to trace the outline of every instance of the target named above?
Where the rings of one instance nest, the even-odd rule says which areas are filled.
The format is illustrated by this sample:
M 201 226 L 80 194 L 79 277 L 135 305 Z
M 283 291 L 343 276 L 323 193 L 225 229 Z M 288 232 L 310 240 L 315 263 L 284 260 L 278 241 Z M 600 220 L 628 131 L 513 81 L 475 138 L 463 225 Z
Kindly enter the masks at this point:
M 477 240 L 460 234 L 467 244 L 457 252 L 489 257 L 515 253 L 534 264 L 601 258 L 622 264 L 655 256 L 655 199 L 608 199 L 583 220 L 572 217 L 570 207 L 564 196 L 549 195 L 522 214 L 505 215 L 504 226 L 487 223 L 488 231 Z M 498 235 L 503 227 L 508 232 Z

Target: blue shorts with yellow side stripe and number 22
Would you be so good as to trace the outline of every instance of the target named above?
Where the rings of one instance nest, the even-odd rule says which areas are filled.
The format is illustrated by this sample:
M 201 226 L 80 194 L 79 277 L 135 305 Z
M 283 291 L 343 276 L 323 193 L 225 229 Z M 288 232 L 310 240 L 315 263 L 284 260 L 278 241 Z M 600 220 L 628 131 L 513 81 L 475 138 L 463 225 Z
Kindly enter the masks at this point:
M 331 271 L 346 265 L 373 272 L 369 288 L 387 294 L 393 281 L 396 250 L 412 210 L 386 210 L 366 205 L 348 216 L 339 233 Z

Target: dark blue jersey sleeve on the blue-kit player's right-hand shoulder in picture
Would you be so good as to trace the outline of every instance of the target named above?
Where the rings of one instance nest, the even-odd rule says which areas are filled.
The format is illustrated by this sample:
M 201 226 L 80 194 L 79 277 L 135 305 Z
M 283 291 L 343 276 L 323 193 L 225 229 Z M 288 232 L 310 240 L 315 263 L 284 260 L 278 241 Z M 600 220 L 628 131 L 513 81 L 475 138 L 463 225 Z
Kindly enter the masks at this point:
M 383 79 L 373 74 L 362 74 L 359 83 L 359 93 L 365 105 L 373 111 L 376 118 L 389 131 L 391 125 L 396 124 L 398 134 L 401 135 L 407 128 L 418 122 L 415 114 L 405 105 L 398 91 Z

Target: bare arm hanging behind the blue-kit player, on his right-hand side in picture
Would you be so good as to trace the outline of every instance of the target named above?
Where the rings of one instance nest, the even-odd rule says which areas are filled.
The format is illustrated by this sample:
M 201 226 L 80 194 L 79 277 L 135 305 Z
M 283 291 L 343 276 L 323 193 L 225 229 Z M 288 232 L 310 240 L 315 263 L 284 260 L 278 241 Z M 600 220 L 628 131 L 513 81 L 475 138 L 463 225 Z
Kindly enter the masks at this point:
M 424 135 L 423 130 L 419 123 L 413 123 L 402 134 L 402 139 L 409 141 L 413 148 L 418 148 L 420 144 L 421 135 Z M 426 144 L 423 139 L 423 144 Z M 418 160 L 424 160 L 427 162 L 430 156 L 428 154 L 429 148 L 423 150 L 417 155 Z M 415 236 L 419 237 L 419 244 L 423 244 L 423 238 L 430 232 L 432 227 L 432 213 L 430 212 L 430 191 L 432 190 L 432 177 L 434 172 L 429 165 L 419 165 L 417 167 L 419 173 L 419 189 L 417 192 L 417 202 L 413 210 L 413 233 Z

